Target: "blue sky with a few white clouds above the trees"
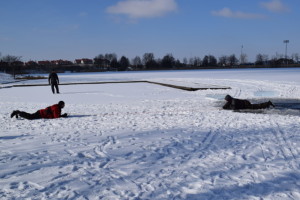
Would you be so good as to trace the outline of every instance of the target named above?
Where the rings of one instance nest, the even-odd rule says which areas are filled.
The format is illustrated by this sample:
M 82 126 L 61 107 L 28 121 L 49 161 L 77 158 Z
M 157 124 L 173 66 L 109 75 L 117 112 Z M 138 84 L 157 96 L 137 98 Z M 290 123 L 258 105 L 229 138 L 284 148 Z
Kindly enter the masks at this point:
M 299 0 L 0 0 L 0 53 L 22 61 L 145 53 L 300 53 Z

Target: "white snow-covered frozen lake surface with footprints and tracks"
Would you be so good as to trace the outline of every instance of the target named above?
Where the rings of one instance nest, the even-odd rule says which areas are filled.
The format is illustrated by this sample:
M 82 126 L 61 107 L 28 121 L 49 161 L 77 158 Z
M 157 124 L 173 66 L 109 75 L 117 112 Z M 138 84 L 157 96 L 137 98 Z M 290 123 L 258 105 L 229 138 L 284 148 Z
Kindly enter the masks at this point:
M 61 83 L 151 80 L 218 85 L 194 92 L 149 83 L 11 87 L 0 73 L 0 199 L 300 199 L 300 69 L 59 74 Z M 45 75 L 47 76 L 47 75 Z M 230 94 L 272 100 L 222 110 Z M 69 118 L 10 118 L 63 100 Z

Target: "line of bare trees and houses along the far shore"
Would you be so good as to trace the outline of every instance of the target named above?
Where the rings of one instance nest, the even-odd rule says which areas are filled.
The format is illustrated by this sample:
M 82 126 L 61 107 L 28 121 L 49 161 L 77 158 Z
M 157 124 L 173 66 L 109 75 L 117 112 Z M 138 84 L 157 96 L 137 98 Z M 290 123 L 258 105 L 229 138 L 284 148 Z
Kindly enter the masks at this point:
M 28 61 L 23 63 L 21 56 L 6 55 L 0 53 L 0 70 L 8 73 L 24 72 L 29 70 L 45 71 L 128 71 L 128 70 L 168 70 L 168 69 L 205 69 L 205 68 L 242 68 L 242 67 L 285 67 L 299 66 L 299 54 L 291 57 L 276 55 L 269 59 L 266 54 L 257 54 L 256 61 L 247 62 L 247 55 L 241 54 L 239 58 L 235 54 L 220 56 L 218 59 L 213 55 L 205 55 L 176 59 L 171 53 L 162 58 L 155 58 L 154 53 L 144 53 L 142 57 L 135 56 L 129 59 L 121 56 L 118 59 L 116 53 L 99 54 L 87 63 L 77 63 L 59 60 L 57 62 Z

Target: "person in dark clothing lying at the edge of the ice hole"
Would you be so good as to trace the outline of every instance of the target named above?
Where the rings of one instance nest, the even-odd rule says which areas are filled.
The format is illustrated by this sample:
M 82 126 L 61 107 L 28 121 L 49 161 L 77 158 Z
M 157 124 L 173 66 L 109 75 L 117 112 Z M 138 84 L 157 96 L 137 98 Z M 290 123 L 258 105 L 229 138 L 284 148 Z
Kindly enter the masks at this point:
M 260 104 L 251 104 L 248 100 L 236 99 L 230 95 L 225 96 L 226 104 L 223 106 L 223 109 L 226 110 L 240 110 L 240 109 L 265 109 L 270 106 L 274 106 L 271 101 L 260 103 Z

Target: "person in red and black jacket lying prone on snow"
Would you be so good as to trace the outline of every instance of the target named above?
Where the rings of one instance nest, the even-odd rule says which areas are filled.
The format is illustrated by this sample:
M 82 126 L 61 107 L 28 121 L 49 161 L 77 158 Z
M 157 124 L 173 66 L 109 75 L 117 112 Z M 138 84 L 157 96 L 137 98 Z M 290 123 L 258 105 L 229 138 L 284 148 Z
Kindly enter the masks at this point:
M 19 111 L 19 110 L 14 110 L 10 117 L 13 118 L 14 116 L 16 116 L 16 118 L 18 117 L 22 117 L 25 119 L 53 119 L 53 118 L 59 118 L 59 117 L 67 117 L 67 113 L 65 114 L 61 114 L 61 109 L 65 107 L 65 102 L 63 101 L 59 101 L 58 104 L 54 104 L 52 106 L 49 106 L 45 109 L 41 109 L 36 111 L 35 113 L 27 113 L 27 112 L 23 112 L 23 111 Z

